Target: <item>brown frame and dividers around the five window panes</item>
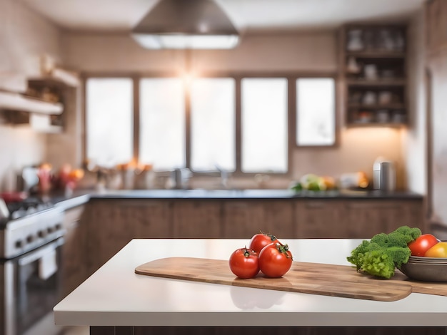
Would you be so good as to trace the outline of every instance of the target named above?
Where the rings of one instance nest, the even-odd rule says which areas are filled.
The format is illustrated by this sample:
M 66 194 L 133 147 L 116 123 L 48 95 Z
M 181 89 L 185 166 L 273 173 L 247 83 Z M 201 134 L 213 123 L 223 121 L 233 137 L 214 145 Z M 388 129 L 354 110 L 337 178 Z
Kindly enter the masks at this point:
M 82 78 L 82 91 L 83 91 L 83 103 L 82 103 L 82 115 L 83 115 L 83 135 L 82 135 L 82 157 L 86 160 L 86 81 L 89 78 L 131 78 L 134 87 L 134 136 L 133 136 L 133 157 L 134 160 L 138 161 L 139 158 L 139 135 L 140 135 L 140 118 L 139 118 L 139 108 L 140 108 L 140 80 L 143 78 L 173 78 L 181 77 L 179 72 L 83 72 L 81 73 Z M 313 150 L 322 150 L 327 148 L 334 148 L 338 146 L 339 135 L 338 135 L 338 113 L 339 113 L 339 103 L 340 95 L 338 94 L 338 77 L 336 73 L 331 72 L 281 72 L 281 71 L 271 71 L 271 72 L 261 72 L 261 71 L 210 71 L 201 72 L 200 77 L 203 78 L 233 78 L 235 80 L 235 155 L 236 155 L 236 170 L 231 172 L 233 177 L 253 177 L 259 173 L 263 175 L 272 176 L 283 176 L 291 177 L 292 175 L 292 159 L 293 151 L 297 148 Z M 287 122 L 288 122 L 288 140 L 287 140 L 287 172 L 242 172 L 241 170 L 241 80 L 243 78 L 285 78 L 287 80 Z M 298 145 L 296 143 L 296 79 L 298 78 L 333 78 L 335 83 L 335 110 L 334 110 L 334 128 L 335 128 L 335 141 L 331 145 Z M 189 93 L 185 94 L 185 140 L 186 140 L 186 168 L 191 168 L 191 104 L 189 101 Z M 168 171 L 166 171 L 168 172 Z M 194 172 L 194 170 L 193 170 Z M 162 174 L 163 172 L 161 172 Z M 194 172 L 197 176 L 218 176 L 220 172 Z

